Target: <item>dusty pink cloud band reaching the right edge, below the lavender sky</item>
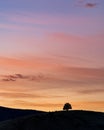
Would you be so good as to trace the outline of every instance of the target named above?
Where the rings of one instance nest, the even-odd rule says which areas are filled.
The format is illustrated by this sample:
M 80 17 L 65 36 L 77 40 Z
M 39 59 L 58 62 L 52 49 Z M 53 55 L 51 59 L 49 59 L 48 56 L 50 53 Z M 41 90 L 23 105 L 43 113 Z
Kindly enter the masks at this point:
M 45 34 L 45 40 L 48 39 L 47 41 L 50 43 L 63 43 L 65 45 L 71 45 L 74 46 L 76 45 L 76 47 L 89 47 L 90 46 L 99 46 L 99 47 L 103 47 L 104 45 L 103 40 L 104 40 L 104 34 L 102 33 L 98 33 L 98 34 L 93 34 L 93 35 L 86 35 L 86 36 L 80 36 L 80 35 L 73 35 L 71 33 L 65 33 L 65 32 L 53 32 L 53 33 L 46 33 Z M 98 43 L 99 42 L 99 43 Z M 75 45 L 73 45 L 75 44 Z M 100 45 L 99 45 L 100 44 Z M 76 48 L 75 47 L 75 48 Z M 102 48 L 101 47 L 101 48 Z

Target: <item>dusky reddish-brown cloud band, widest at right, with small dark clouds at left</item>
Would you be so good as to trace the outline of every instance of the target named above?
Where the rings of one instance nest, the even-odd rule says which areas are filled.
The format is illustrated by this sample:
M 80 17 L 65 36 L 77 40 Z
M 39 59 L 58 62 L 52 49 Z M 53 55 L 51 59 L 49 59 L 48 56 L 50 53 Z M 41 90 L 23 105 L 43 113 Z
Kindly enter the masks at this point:
M 55 74 L 54 74 L 55 73 Z M 103 68 L 79 68 L 79 67 L 67 67 L 59 66 L 54 69 L 54 72 L 50 74 L 13 74 L 13 75 L 1 75 L 2 82 L 14 82 L 18 80 L 25 80 L 30 82 L 45 82 L 45 83 L 58 83 L 66 85 L 94 85 L 104 84 L 104 69 Z M 46 86 L 47 87 L 47 86 Z M 53 86 L 53 88 L 55 88 Z

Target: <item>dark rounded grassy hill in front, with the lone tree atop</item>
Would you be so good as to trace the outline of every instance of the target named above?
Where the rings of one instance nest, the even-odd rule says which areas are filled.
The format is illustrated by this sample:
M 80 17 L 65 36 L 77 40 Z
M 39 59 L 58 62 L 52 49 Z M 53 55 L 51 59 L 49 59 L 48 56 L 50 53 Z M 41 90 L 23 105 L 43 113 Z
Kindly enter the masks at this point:
M 0 130 L 104 130 L 104 113 L 49 112 L 1 122 Z

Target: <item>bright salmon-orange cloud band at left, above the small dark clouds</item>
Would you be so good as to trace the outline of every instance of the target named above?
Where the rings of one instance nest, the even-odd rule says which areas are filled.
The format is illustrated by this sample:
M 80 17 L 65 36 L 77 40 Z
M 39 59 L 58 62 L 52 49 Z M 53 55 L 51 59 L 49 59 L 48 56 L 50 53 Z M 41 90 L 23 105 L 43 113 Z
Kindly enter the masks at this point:
M 25 56 L 23 58 L 14 58 L 14 57 L 3 57 L 0 56 L 0 65 L 2 68 L 8 64 L 8 68 L 22 68 L 26 70 L 26 68 L 29 68 L 30 70 L 34 70 L 34 68 L 37 68 L 37 70 L 45 69 L 45 68 L 52 68 L 54 67 L 54 61 L 51 58 L 42 57 L 42 56 Z

